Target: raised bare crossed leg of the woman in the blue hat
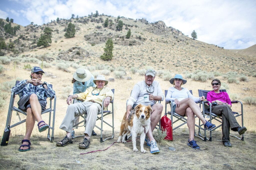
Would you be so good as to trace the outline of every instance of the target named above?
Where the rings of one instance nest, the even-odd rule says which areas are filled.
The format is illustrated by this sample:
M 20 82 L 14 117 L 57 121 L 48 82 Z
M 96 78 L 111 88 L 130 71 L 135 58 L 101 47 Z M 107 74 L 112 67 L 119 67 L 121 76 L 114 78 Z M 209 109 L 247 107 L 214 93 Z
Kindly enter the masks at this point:
M 175 112 L 179 115 L 185 115 L 186 109 L 190 107 L 190 109 L 194 112 L 194 114 L 205 124 L 206 120 L 201 114 L 200 107 L 195 103 L 194 100 L 190 98 L 183 99 L 180 101 L 179 107 L 176 107 Z

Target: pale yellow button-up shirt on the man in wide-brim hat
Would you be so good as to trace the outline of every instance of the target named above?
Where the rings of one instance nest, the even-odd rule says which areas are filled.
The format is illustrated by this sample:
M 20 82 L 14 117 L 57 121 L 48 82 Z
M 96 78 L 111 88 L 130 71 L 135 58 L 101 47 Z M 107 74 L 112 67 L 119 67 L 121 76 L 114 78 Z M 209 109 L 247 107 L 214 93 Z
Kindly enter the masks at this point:
M 103 87 L 101 89 L 99 88 L 94 90 L 95 88 L 96 87 L 89 87 L 84 92 L 76 94 L 78 96 L 77 99 L 82 99 L 84 100 L 84 102 L 93 100 L 96 103 L 99 103 L 100 105 L 102 104 L 103 99 L 105 99 L 107 96 L 111 97 L 111 100 L 113 100 L 114 94 L 110 88 Z M 100 90 L 100 94 L 98 96 L 92 95 L 92 90 L 95 91 L 93 91 L 93 94 L 99 93 Z

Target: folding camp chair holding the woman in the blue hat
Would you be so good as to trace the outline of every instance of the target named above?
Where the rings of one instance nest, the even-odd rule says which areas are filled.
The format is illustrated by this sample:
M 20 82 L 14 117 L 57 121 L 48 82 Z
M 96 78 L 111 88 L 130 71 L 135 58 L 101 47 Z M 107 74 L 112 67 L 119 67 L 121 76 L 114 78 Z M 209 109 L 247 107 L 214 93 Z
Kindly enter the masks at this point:
M 189 91 L 190 91 L 190 93 L 193 95 L 192 90 L 189 90 Z M 168 90 L 165 90 L 164 92 L 165 92 L 165 97 L 166 97 Z M 172 102 L 173 102 L 173 101 L 165 102 L 165 113 L 171 115 L 172 127 L 173 127 L 173 131 L 174 131 L 175 129 L 177 129 L 177 128 L 179 128 L 179 127 L 181 127 L 181 126 L 187 124 L 187 119 L 186 119 L 185 116 L 181 116 L 181 115 L 179 115 L 179 114 L 177 114 L 177 113 L 175 113 L 175 112 L 173 111 L 173 107 L 172 107 L 173 104 L 172 104 Z M 198 102 L 196 102 L 196 103 L 198 103 Z M 170 106 L 170 110 L 171 110 L 171 111 L 169 111 L 169 112 L 167 112 L 167 104 L 169 104 L 169 106 Z M 197 116 L 195 115 L 195 118 L 196 118 L 196 117 L 197 117 Z M 174 118 L 175 118 L 176 120 L 174 120 Z M 174 127 L 174 126 L 173 126 L 174 123 L 176 123 L 176 122 L 178 122 L 178 121 L 182 121 L 183 123 L 182 123 L 182 124 L 179 124 L 179 125 L 177 125 L 177 126 Z M 195 131 L 194 136 L 196 136 L 196 137 L 202 139 L 203 141 L 206 141 L 206 130 L 205 130 L 205 128 L 204 128 L 204 124 L 201 124 L 201 123 L 200 123 L 200 119 L 199 119 L 199 124 L 198 124 L 198 125 L 195 124 L 195 126 L 198 127 L 198 129 L 199 129 L 199 135 L 197 135 L 197 134 L 196 134 L 196 131 Z M 205 134 L 204 136 L 200 135 L 200 129 L 204 131 L 204 134 Z

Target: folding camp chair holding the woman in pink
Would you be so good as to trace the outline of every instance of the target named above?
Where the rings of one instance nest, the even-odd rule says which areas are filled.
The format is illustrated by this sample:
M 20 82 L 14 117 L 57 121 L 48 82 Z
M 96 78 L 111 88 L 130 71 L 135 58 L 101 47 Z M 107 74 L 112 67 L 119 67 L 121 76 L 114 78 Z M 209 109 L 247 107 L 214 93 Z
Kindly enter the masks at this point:
M 221 89 L 220 91 L 225 91 L 226 92 L 226 89 Z M 198 93 L 199 93 L 200 97 L 201 96 L 205 96 L 206 97 L 208 92 L 209 92 L 209 90 L 200 90 L 200 89 L 198 90 Z M 241 101 L 231 101 L 231 103 L 240 103 L 241 104 L 241 113 L 233 112 L 233 115 L 235 117 L 241 116 L 241 119 L 242 119 L 241 121 L 242 121 L 242 126 L 243 126 L 243 103 Z M 210 117 L 209 122 L 211 122 L 212 120 L 216 120 L 216 121 L 218 121 L 220 123 L 220 125 L 218 125 L 218 126 L 216 125 L 215 128 L 212 128 L 210 130 L 210 137 L 209 137 L 209 139 L 207 138 L 207 140 L 212 141 L 212 131 L 214 131 L 217 128 L 222 126 L 222 119 L 221 119 L 221 116 L 218 116 L 218 115 L 216 115 L 216 114 L 211 112 L 212 104 L 210 102 L 202 101 L 200 103 L 200 108 L 201 108 L 201 106 L 202 106 L 202 110 L 203 110 L 202 113 L 204 115 L 205 114 L 209 115 L 209 117 Z M 237 136 L 234 136 L 234 135 L 229 135 L 229 136 L 233 136 L 233 137 L 236 137 L 236 138 L 238 138 L 240 140 L 244 140 L 244 134 L 242 134 L 241 138 L 239 138 Z

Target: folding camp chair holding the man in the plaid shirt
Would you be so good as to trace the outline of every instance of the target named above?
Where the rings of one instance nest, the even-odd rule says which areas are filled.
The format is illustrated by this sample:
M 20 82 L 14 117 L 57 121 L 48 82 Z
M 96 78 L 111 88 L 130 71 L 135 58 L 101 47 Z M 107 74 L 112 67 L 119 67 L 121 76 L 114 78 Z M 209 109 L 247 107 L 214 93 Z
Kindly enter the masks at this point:
M 15 85 L 18 84 L 19 81 L 16 81 Z M 52 87 L 52 85 L 50 84 L 50 86 Z M 12 92 L 11 93 L 11 97 L 10 97 L 10 103 L 9 103 L 9 110 L 8 110 L 8 115 L 7 115 L 7 120 L 6 120 L 6 127 L 7 126 L 10 126 L 10 128 L 13 128 L 19 124 L 22 124 L 24 122 L 26 122 L 26 119 L 24 120 L 21 120 L 20 119 L 20 116 L 19 116 L 19 113 L 22 113 L 24 115 L 27 116 L 27 113 L 25 110 L 21 110 L 17 107 L 14 106 L 14 100 L 15 100 L 15 93 Z M 53 102 L 53 109 L 52 109 L 52 100 L 54 100 Z M 19 122 L 11 125 L 11 119 L 12 119 L 12 112 L 13 111 L 16 111 L 16 114 L 19 116 Z M 50 142 L 53 142 L 54 141 L 54 122 L 55 122 L 55 111 L 56 111 L 56 95 L 52 96 L 50 98 L 50 107 L 46 110 L 44 110 L 41 114 L 45 114 L 45 113 L 48 113 L 49 112 L 49 129 L 48 129 L 48 134 L 47 134 L 47 138 L 50 140 Z M 52 114 L 53 112 L 53 114 Z M 52 119 L 52 121 L 51 121 Z M 51 122 L 52 122 L 52 126 L 51 126 Z M 51 137 L 50 137 L 50 129 L 51 129 Z

